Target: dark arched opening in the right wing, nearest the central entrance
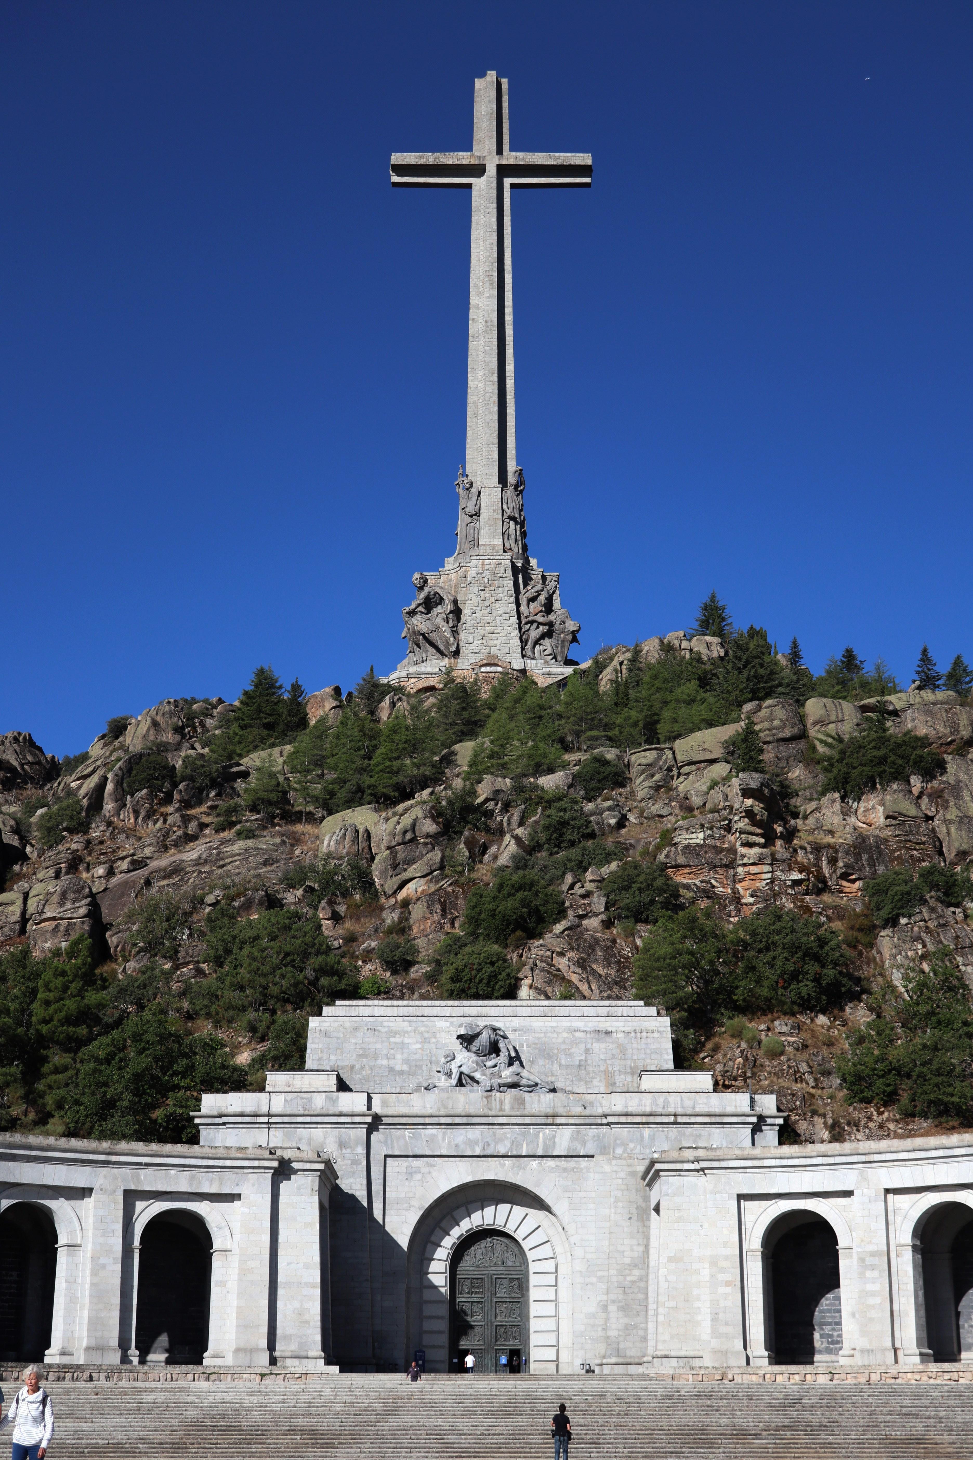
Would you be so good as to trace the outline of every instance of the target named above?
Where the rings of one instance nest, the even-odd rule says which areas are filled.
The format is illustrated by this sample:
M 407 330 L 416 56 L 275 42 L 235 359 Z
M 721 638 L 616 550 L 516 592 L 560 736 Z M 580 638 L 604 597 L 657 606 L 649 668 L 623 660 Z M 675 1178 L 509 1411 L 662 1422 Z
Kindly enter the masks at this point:
M 772 1364 L 836 1361 L 842 1352 L 842 1278 L 830 1222 L 794 1212 L 770 1232 Z

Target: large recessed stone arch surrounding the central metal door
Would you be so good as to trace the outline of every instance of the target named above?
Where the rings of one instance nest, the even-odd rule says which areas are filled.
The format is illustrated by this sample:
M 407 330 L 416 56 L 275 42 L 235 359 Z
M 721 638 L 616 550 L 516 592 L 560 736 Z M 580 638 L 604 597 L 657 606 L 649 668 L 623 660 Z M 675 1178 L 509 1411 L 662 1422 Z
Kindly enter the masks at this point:
M 547 1203 L 508 1181 L 454 1187 L 426 1207 L 408 1242 L 407 1355 L 426 1350 L 426 1368 L 446 1372 L 449 1266 L 477 1231 L 506 1234 L 524 1250 L 530 1286 L 530 1358 L 534 1372 L 570 1368 L 570 1256 Z

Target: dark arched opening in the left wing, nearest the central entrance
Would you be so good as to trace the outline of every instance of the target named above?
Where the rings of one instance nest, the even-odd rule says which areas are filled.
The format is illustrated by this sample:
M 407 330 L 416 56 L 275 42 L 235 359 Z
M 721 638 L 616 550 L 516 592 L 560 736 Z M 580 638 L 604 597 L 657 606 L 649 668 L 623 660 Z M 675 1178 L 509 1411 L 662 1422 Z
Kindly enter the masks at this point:
M 209 1229 L 191 1212 L 165 1212 L 139 1244 L 136 1349 L 140 1364 L 201 1364 L 210 1337 Z

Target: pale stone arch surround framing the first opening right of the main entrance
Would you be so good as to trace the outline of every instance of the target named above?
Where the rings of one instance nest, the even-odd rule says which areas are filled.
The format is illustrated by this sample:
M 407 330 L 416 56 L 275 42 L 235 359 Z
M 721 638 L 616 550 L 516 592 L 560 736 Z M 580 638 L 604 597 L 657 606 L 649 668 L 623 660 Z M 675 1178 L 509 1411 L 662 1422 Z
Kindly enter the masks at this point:
M 769 1203 L 747 1237 L 751 1364 L 848 1362 L 852 1232 L 823 1197 Z

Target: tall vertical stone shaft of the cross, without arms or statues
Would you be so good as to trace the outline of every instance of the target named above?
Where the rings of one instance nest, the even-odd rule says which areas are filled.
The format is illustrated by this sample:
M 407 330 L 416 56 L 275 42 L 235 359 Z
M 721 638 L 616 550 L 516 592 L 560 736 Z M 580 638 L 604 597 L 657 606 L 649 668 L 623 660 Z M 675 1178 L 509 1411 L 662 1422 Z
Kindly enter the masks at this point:
M 473 184 L 467 473 L 490 493 L 480 546 L 499 550 L 500 507 L 492 489 L 505 486 L 516 466 L 511 182 L 497 169 L 509 156 L 509 127 L 506 80 L 487 72 L 476 82 L 473 112 L 473 152 L 483 158 L 484 172 Z

